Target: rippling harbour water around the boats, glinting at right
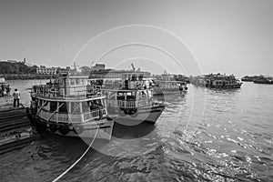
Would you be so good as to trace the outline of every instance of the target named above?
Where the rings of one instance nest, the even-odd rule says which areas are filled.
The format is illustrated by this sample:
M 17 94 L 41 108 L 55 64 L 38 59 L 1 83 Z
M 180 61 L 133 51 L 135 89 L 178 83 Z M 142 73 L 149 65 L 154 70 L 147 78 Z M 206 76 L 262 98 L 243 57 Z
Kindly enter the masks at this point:
M 10 81 L 22 103 L 32 84 Z M 165 97 L 156 126 L 115 128 L 113 140 L 97 141 L 60 181 L 272 181 L 272 93 L 273 86 L 253 83 L 238 90 L 189 86 L 186 96 Z M 80 139 L 46 134 L 2 155 L 0 180 L 52 181 L 86 147 Z

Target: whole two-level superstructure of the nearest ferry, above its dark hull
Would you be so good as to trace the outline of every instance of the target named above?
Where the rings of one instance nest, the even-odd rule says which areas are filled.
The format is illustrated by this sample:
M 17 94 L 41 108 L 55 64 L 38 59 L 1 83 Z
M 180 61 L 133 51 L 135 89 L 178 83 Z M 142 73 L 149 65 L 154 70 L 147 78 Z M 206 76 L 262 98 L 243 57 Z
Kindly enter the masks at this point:
M 106 96 L 88 85 L 87 76 L 60 76 L 34 86 L 31 92 L 36 115 L 45 121 L 85 123 L 106 116 Z

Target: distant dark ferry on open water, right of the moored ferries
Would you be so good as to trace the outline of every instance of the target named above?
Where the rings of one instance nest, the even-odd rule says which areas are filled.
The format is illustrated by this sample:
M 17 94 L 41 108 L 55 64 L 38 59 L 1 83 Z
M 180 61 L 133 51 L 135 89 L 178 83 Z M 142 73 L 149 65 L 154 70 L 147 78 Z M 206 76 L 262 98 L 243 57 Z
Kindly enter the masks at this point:
M 242 83 L 234 75 L 226 76 L 221 74 L 196 76 L 192 78 L 191 83 L 210 88 L 240 88 L 242 86 Z

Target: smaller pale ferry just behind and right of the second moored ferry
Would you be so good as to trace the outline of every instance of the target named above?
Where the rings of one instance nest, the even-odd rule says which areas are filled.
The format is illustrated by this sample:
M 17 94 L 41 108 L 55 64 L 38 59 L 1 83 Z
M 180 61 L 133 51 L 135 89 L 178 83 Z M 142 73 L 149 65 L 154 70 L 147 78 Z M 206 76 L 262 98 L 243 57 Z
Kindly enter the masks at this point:
M 187 82 L 177 81 L 174 76 L 163 74 L 153 79 L 154 95 L 185 94 Z

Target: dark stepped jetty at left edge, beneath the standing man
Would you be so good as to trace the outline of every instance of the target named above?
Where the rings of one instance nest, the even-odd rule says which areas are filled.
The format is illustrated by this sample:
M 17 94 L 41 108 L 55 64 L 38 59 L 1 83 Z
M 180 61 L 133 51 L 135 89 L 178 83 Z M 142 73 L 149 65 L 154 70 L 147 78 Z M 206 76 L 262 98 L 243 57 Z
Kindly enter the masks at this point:
M 39 137 L 32 130 L 25 106 L 0 108 L 0 154 L 25 147 Z

